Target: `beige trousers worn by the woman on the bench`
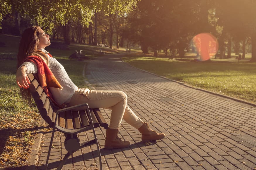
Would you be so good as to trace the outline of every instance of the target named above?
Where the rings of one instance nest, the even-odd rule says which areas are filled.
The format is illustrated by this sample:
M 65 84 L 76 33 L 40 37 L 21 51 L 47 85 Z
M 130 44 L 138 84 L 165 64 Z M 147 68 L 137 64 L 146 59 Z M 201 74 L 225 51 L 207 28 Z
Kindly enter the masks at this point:
M 139 129 L 144 122 L 137 117 L 127 105 L 127 95 L 122 91 L 97 91 L 78 89 L 71 97 L 67 106 L 88 103 L 90 108 L 106 108 L 112 110 L 110 115 L 110 129 L 117 129 L 124 119 L 136 129 Z

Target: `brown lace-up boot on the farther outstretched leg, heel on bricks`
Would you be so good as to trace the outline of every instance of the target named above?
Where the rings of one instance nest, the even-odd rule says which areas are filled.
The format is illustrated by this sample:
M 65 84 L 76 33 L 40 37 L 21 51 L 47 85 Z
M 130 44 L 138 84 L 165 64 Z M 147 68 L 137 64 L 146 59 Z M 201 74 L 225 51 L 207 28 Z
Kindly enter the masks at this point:
M 148 142 L 150 140 L 160 140 L 165 137 L 164 133 L 157 133 L 150 129 L 149 124 L 144 122 L 144 124 L 138 129 L 141 135 L 142 142 Z

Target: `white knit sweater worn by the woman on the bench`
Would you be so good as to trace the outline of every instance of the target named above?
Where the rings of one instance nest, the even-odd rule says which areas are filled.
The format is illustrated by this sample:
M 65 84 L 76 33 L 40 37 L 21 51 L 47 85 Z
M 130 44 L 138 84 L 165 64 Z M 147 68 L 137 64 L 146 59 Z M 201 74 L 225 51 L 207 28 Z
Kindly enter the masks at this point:
M 49 68 L 52 71 L 53 75 L 59 81 L 59 84 L 63 89 L 50 87 L 50 91 L 53 95 L 54 100 L 59 104 L 67 103 L 70 98 L 73 96 L 78 87 L 71 81 L 64 67 L 53 57 L 48 55 L 48 52 L 44 50 L 49 58 Z M 25 65 L 27 73 L 37 73 L 37 66 L 31 62 L 24 62 L 22 65 Z

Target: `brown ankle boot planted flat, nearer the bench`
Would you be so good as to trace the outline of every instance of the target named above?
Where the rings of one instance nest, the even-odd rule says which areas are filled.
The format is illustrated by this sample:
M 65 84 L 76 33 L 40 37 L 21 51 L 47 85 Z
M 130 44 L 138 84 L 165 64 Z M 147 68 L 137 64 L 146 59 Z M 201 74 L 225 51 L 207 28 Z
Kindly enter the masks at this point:
M 118 129 L 107 129 L 107 137 L 105 140 L 105 149 L 126 148 L 130 146 L 130 142 L 122 141 L 118 136 Z

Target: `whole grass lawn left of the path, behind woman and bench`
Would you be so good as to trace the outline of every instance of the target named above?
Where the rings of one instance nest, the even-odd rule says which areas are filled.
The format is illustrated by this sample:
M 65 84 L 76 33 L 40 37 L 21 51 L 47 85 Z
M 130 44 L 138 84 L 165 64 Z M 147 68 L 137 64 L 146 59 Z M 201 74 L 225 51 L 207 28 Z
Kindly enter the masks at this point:
M 0 34 L 0 41 L 5 46 L 0 47 L 0 169 L 5 167 L 20 167 L 28 164 L 31 146 L 34 143 L 35 132 L 38 128 L 40 114 L 35 104 L 28 106 L 19 95 L 16 85 L 16 55 L 19 37 Z M 100 53 L 97 47 L 89 50 L 89 46 L 72 44 L 69 50 L 47 48 L 65 67 L 72 81 L 78 87 L 88 87 L 85 84 L 83 70 L 86 62 L 69 59 L 74 49 L 83 49 L 87 57 L 95 58 Z M 109 50 L 109 49 L 107 49 Z M 109 50 L 111 52 L 111 50 Z M 110 53 L 109 52 L 109 53 Z M 90 53 L 90 55 L 89 55 Z M 112 51 L 116 53 L 116 51 Z M 8 58 L 8 59 L 7 59 Z

